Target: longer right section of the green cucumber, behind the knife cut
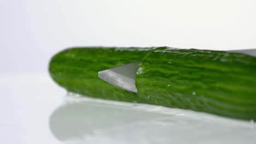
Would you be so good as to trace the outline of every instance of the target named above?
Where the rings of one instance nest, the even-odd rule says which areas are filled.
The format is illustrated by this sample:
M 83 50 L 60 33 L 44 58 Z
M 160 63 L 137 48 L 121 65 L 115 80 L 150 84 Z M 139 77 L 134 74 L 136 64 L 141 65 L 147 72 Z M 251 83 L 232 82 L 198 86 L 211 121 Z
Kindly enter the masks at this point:
M 256 119 L 256 58 L 240 53 L 163 47 L 136 75 L 147 103 Z

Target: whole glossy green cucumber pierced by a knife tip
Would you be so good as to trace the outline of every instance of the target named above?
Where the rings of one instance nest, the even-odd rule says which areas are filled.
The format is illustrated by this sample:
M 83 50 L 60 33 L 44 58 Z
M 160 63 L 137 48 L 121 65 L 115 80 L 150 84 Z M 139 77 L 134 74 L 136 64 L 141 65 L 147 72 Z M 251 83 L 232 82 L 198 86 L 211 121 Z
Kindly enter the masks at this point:
M 110 85 L 98 71 L 142 61 L 138 93 Z M 89 97 L 182 107 L 256 119 L 256 58 L 241 53 L 158 48 L 73 48 L 57 53 L 50 74 L 68 91 Z

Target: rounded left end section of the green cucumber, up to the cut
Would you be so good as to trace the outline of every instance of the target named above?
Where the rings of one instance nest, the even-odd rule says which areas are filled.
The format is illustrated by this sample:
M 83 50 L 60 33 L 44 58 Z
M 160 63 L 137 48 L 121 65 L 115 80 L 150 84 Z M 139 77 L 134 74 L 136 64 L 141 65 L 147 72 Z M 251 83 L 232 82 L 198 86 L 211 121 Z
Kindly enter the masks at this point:
M 69 92 L 110 100 L 136 101 L 136 93 L 115 87 L 98 77 L 98 71 L 142 61 L 155 48 L 77 47 L 51 58 L 49 72 L 53 80 Z M 141 100 L 140 100 L 141 101 Z

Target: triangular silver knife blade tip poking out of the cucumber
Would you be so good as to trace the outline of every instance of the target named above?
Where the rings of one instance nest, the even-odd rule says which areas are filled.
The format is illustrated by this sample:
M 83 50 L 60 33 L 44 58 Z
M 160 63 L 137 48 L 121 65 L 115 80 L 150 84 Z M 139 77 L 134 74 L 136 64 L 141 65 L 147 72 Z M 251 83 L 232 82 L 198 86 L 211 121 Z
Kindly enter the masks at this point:
M 102 80 L 126 91 L 137 93 L 136 72 L 141 61 L 119 65 L 118 67 L 98 71 Z

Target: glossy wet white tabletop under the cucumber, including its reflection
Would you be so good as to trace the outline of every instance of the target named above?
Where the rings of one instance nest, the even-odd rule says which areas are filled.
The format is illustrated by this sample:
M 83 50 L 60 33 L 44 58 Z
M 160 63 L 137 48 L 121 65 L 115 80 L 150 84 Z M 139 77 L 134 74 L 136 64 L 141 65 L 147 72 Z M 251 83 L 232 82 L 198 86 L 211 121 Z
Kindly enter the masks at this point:
M 46 74 L 1 76 L 1 143 L 254 143 L 256 124 L 66 94 Z

